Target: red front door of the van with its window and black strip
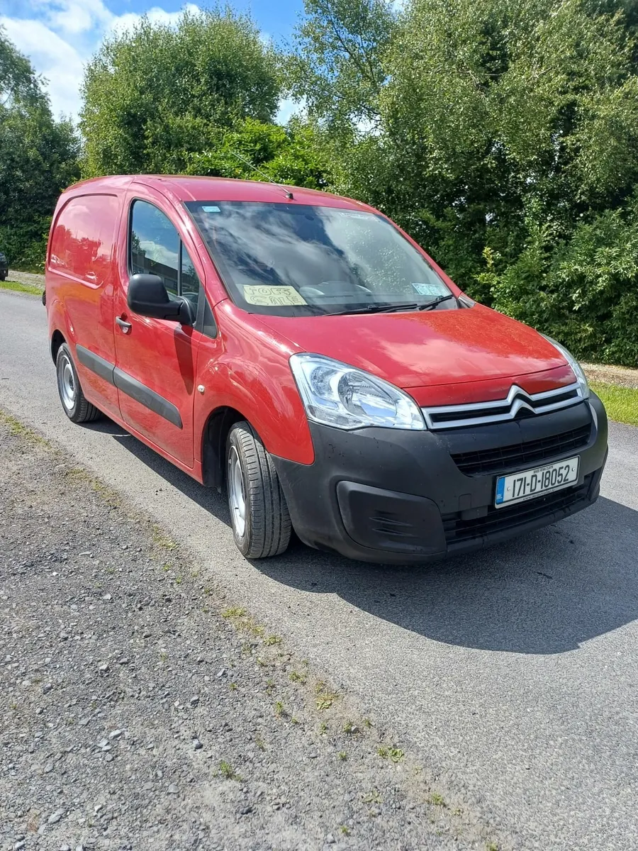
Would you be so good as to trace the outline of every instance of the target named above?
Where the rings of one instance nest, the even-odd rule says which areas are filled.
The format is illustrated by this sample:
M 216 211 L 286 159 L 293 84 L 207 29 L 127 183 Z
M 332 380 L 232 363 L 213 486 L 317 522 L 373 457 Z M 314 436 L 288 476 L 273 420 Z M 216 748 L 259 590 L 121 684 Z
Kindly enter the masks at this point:
M 128 275 L 159 275 L 168 294 L 197 306 L 200 279 L 191 255 L 168 215 L 152 197 L 131 197 L 128 214 Z M 122 266 L 121 266 L 122 268 Z M 128 277 L 115 304 L 117 366 L 114 375 L 122 419 L 158 448 L 193 466 L 193 393 L 200 334 L 164 319 L 128 309 Z

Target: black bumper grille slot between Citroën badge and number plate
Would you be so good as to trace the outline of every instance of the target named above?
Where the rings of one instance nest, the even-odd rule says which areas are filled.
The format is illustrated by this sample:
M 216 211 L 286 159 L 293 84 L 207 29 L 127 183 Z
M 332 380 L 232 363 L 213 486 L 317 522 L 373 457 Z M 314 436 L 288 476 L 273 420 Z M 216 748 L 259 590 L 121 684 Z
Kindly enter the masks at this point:
M 561 455 L 587 446 L 591 437 L 591 424 L 580 426 L 562 434 L 542 437 L 528 443 L 513 443 L 495 449 L 453 454 L 452 460 L 466 476 L 486 476 L 503 473 L 526 466 L 540 465 L 545 460 L 555 460 Z

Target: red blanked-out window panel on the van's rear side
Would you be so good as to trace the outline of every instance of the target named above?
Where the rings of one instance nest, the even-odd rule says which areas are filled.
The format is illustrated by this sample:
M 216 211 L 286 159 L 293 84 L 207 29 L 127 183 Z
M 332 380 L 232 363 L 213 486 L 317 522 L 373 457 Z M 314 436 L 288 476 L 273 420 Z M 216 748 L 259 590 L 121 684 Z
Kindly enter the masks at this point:
M 97 286 L 109 280 L 119 211 L 115 195 L 72 197 L 55 221 L 48 268 Z

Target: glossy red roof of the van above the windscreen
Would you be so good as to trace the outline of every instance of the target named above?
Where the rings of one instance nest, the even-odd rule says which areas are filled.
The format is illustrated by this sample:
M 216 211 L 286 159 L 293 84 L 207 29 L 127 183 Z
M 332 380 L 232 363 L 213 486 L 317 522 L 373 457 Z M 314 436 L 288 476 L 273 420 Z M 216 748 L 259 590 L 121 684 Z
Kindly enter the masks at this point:
M 331 195 L 316 189 L 300 186 L 278 186 L 260 180 L 234 180 L 225 177 L 190 177 L 179 174 L 127 174 L 94 177 L 70 186 L 67 191 L 77 191 L 84 186 L 94 189 L 125 190 L 132 184 L 151 186 L 176 201 L 260 201 L 290 203 L 287 191 L 293 193 L 293 203 L 321 204 L 326 207 L 371 209 L 360 201 Z

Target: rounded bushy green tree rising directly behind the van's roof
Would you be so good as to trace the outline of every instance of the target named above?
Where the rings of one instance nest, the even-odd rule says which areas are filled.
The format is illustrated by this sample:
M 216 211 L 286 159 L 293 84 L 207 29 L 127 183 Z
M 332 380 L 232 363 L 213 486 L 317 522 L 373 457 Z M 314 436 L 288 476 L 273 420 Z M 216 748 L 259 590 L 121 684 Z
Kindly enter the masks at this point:
M 181 172 L 219 128 L 270 121 L 279 88 L 276 54 L 248 17 L 186 12 L 174 28 L 143 18 L 88 63 L 83 172 Z

